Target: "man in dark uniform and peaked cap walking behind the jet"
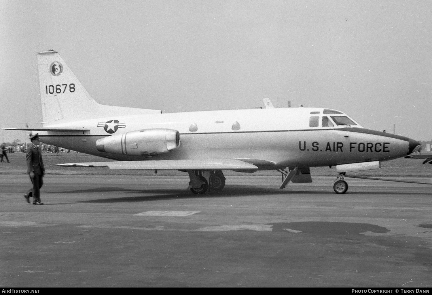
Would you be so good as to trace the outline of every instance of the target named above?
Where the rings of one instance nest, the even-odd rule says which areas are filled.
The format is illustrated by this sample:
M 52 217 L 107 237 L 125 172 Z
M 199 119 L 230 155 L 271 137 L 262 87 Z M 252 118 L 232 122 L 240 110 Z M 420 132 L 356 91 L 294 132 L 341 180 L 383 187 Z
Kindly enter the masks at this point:
M 32 143 L 27 149 L 25 158 L 27 160 L 27 173 L 33 183 L 33 188 L 30 188 L 29 191 L 24 194 L 24 198 L 27 203 L 30 203 L 30 197 L 33 196 L 33 204 L 43 205 L 44 203 L 41 203 L 40 188 L 44 184 L 43 177 L 45 175 L 45 167 L 42 161 L 42 151 L 39 147 L 39 134 L 30 135 L 30 140 Z

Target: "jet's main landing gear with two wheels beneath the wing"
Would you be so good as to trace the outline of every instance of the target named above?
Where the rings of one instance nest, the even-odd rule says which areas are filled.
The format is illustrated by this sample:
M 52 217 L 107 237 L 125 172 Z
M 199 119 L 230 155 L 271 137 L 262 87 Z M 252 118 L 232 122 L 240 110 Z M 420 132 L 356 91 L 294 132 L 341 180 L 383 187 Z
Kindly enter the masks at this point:
M 220 191 L 225 186 L 222 170 L 187 170 L 189 188 L 194 194 L 205 194 L 206 191 Z

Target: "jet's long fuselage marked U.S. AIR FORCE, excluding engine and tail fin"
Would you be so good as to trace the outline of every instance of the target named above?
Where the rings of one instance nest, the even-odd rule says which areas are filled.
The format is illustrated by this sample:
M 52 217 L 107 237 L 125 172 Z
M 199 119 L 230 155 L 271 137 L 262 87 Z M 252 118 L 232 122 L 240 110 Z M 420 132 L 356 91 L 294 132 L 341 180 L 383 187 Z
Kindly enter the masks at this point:
M 310 127 L 311 116 L 319 116 L 321 122 L 322 116 L 334 115 L 323 115 L 322 108 L 281 108 L 110 116 L 44 126 L 90 129 L 86 132 L 39 135 L 47 144 L 115 160 L 254 159 L 272 161 L 281 167 L 333 166 L 389 160 L 409 151 L 408 138 L 369 132 L 359 125 L 323 127 L 320 123 Z M 96 149 L 96 141 L 106 136 L 161 128 L 180 133 L 179 148 L 153 157 Z

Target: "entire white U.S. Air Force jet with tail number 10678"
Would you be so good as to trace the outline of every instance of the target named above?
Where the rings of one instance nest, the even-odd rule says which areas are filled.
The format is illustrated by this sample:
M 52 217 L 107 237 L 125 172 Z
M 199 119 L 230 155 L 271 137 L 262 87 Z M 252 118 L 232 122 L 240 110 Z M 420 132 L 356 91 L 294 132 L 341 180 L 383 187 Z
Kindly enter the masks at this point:
M 220 190 L 223 169 L 275 169 L 289 181 L 312 182 L 312 166 L 336 166 L 334 191 L 345 193 L 348 171 L 377 169 L 380 161 L 419 148 L 407 137 L 364 129 L 328 108 L 273 108 L 162 113 L 98 104 L 54 50 L 38 53 L 43 122 L 41 141 L 111 162 L 58 166 L 178 169 L 195 194 Z M 267 101 L 267 100 L 266 100 Z

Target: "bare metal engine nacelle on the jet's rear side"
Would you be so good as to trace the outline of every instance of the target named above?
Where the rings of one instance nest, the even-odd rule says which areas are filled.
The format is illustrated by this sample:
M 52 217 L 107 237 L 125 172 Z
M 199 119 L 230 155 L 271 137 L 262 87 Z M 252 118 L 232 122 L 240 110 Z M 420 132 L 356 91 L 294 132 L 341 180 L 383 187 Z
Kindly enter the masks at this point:
M 143 129 L 111 135 L 96 141 L 100 152 L 132 156 L 154 156 L 180 146 L 180 134 L 172 129 Z

